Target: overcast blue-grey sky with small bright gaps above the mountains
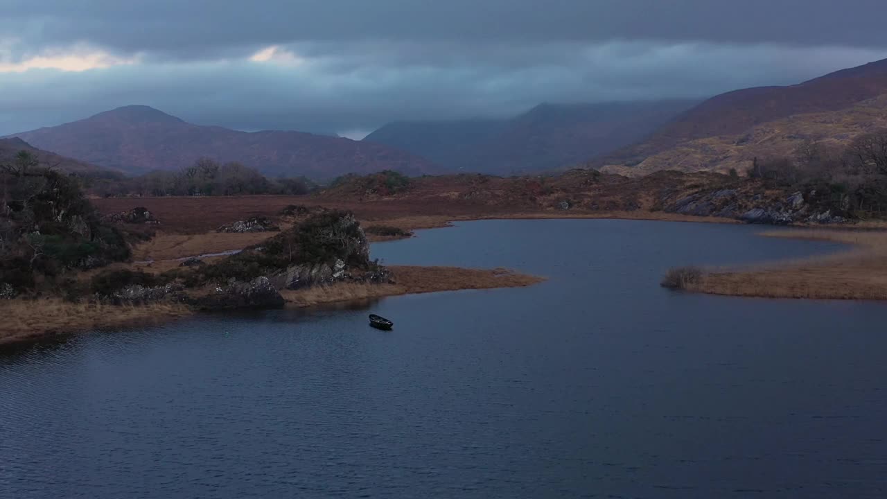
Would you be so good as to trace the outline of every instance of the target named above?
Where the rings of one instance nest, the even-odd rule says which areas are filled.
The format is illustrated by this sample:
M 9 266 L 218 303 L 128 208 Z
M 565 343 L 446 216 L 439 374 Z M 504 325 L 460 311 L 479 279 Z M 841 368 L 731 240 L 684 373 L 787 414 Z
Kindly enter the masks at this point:
M 145 104 L 359 137 L 887 58 L 884 0 L 0 0 L 0 135 Z

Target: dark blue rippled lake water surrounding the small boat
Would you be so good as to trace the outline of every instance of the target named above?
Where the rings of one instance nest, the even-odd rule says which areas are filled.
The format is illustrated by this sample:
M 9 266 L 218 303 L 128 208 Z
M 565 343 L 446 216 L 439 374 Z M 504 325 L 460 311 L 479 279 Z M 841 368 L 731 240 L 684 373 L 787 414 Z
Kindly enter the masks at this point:
M 0 497 L 885 497 L 887 306 L 708 297 L 760 227 L 483 221 L 374 247 L 526 289 L 200 317 L 0 356 Z

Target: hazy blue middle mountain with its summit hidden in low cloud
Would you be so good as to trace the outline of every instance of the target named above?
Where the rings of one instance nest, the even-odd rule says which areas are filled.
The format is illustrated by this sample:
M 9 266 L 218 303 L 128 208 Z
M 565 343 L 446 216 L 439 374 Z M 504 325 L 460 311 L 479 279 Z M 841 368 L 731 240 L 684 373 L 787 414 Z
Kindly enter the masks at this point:
M 506 120 L 389 123 L 368 135 L 449 170 L 552 170 L 643 139 L 697 101 L 542 104 Z

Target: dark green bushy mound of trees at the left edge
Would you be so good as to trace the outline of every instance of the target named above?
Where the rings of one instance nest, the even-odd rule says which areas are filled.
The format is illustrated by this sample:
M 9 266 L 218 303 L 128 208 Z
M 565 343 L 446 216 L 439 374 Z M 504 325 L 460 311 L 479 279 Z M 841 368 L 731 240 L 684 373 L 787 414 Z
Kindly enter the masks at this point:
M 0 163 L 0 287 L 42 293 L 69 287 L 70 271 L 130 257 L 123 234 L 103 224 L 78 178 L 21 151 Z

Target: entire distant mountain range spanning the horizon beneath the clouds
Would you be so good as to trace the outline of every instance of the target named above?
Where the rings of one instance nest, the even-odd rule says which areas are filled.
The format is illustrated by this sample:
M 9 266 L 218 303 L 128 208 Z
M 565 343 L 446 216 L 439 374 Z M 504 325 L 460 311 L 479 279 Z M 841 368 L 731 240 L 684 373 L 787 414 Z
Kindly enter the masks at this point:
M 754 157 L 786 156 L 808 139 L 843 146 L 883 127 L 887 59 L 796 85 L 726 92 L 701 103 L 542 104 L 501 120 L 389 123 L 360 141 L 200 126 L 145 106 L 14 136 L 27 147 L 76 158 L 62 158 L 72 171 L 176 170 L 209 156 L 270 176 L 326 179 L 379 170 L 513 175 L 579 164 L 627 175 L 742 171 Z M 0 154 L 16 144 L 0 141 Z M 44 156 L 52 154 L 46 151 Z

